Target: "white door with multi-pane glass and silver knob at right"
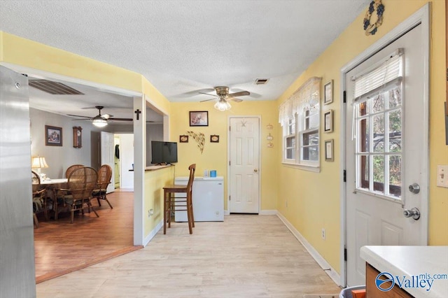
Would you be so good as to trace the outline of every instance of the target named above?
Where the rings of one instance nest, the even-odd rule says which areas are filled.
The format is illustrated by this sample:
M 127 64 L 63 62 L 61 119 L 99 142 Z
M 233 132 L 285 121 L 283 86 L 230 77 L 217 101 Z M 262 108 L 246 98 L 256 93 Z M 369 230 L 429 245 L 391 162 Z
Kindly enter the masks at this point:
M 346 273 L 350 286 L 365 284 L 365 261 L 359 257 L 362 246 L 427 243 L 428 173 L 426 158 L 420 155 L 421 148 L 428 147 L 423 115 L 428 103 L 421 34 L 419 25 L 346 73 Z M 381 86 L 364 101 L 353 102 L 352 79 L 371 71 L 399 48 L 404 50 L 402 83 Z M 414 183 L 420 192 L 411 192 L 409 185 Z M 412 208 L 421 211 L 418 220 L 404 216 Z

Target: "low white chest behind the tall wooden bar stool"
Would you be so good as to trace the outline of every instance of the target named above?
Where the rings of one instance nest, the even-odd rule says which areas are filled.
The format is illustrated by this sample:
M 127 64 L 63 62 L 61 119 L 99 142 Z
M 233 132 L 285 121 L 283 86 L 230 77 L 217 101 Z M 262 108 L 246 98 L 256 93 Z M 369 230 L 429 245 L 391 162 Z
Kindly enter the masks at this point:
M 188 177 L 177 177 L 175 184 L 187 185 Z M 179 197 L 183 194 L 179 194 Z M 193 214 L 195 222 L 224 220 L 224 178 L 195 177 L 193 181 Z M 187 211 L 174 213 L 176 222 L 187 222 Z

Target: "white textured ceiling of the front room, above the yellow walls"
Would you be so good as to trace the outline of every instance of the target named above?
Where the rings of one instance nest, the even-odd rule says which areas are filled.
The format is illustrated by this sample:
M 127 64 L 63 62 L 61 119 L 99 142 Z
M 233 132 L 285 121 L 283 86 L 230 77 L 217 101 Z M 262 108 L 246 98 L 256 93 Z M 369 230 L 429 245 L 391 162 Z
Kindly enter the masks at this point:
M 141 73 L 169 101 L 219 85 L 274 100 L 369 2 L 0 0 L 0 30 Z

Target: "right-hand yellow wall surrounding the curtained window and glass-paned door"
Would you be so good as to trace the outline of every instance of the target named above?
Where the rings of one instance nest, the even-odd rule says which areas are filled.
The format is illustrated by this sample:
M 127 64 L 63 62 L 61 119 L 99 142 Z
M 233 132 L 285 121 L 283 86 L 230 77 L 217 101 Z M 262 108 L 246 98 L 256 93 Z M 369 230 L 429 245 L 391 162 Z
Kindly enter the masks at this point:
M 321 162 L 321 173 L 309 173 L 279 166 L 278 210 L 311 243 L 318 253 L 337 271 L 339 268 L 339 138 L 340 138 L 340 69 L 391 31 L 409 15 L 424 6 L 427 1 L 383 0 L 384 22 L 374 36 L 365 36 L 361 13 L 356 20 L 295 80 L 279 99 L 286 100 L 297 87 L 312 76 L 323 77 L 323 83 L 334 80 L 335 130 L 332 134 L 321 133 L 321 145 L 325 139 L 335 139 L 335 162 Z M 432 38 L 430 43 L 430 245 L 448 245 L 448 189 L 435 186 L 437 164 L 448 164 L 448 146 L 444 144 L 444 118 L 441 112 L 445 100 L 444 82 L 444 1 L 433 1 Z M 322 150 L 323 151 L 323 150 Z M 321 152 L 321 160 L 323 160 Z M 281 162 L 281 152 L 277 157 Z M 285 200 L 288 198 L 288 208 Z M 321 239 L 321 228 L 326 229 L 325 241 Z

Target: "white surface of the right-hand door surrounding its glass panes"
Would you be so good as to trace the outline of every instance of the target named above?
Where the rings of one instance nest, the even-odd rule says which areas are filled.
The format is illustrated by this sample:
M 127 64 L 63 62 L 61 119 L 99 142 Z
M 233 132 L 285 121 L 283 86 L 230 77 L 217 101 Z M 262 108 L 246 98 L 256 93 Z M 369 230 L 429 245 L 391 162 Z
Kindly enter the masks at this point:
M 421 153 L 428 152 L 428 118 L 425 113 L 428 111 L 428 101 L 425 100 L 427 86 L 424 85 L 428 72 L 425 71 L 426 56 L 423 55 L 422 40 L 422 26 L 419 25 L 345 75 L 346 284 L 349 286 L 365 284 L 365 261 L 359 257 L 360 247 L 365 245 L 426 245 L 427 243 L 428 160 L 424 155 L 421 156 Z M 353 138 L 352 140 L 352 128 L 355 124 L 353 124 L 352 117 L 353 82 L 351 78 L 365 73 L 372 65 L 384 61 L 398 48 L 404 49 L 405 57 L 401 94 L 402 136 L 400 146 L 402 147 L 402 156 L 400 158 L 402 159 L 402 171 L 398 175 L 401 180 L 401 199 L 389 199 L 387 196 L 375 192 L 360 190 L 363 187 L 360 187 L 360 173 L 357 173 L 356 168 L 356 158 L 358 158 L 356 157 L 356 142 L 358 144 L 361 142 L 361 135 L 357 134 L 357 139 Z M 384 119 L 390 119 L 388 113 L 384 115 Z M 370 121 L 371 126 L 374 120 Z M 384 123 L 387 124 L 388 121 Z M 384 139 L 390 137 L 388 132 L 389 127 L 384 127 Z M 374 136 L 372 128 L 370 128 L 370 134 L 372 137 Z M 387 155 L 388 153 L 386 153 Z M 370 156 L 370 158 L 375 157 Z M 388 158 L 385 158 L 385 166 L 389 164 Z M 359 164 L 361 163 L 359 162 Z M 372 173 L 373 167 L 370 163 L 369 169 L 365 171 Z M 393 175 L 391 170 L 386 171 L 384 179 L 387 179 L 389 174 Z M 358 180 L 358 185 L 356 180 Z M 418 183 L 421 187 L 418 194 L 409 191 L 408 186 L 413 183 Z M 421 218 L 419 220 L 405 218 L 403 211 L 414 207 L 421 211 Z

